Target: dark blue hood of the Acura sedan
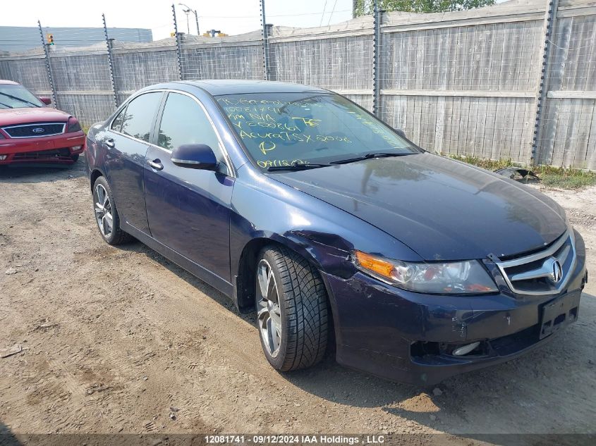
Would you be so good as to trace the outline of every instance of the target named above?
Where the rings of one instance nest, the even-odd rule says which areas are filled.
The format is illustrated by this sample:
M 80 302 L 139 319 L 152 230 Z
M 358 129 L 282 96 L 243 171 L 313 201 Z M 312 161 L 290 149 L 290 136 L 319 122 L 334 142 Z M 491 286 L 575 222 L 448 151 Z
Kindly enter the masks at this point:
M 566 230 L 564 210 L 540 192 L 433 154 L 269 175 L 375 225 L 425 260 L 520 254 Z

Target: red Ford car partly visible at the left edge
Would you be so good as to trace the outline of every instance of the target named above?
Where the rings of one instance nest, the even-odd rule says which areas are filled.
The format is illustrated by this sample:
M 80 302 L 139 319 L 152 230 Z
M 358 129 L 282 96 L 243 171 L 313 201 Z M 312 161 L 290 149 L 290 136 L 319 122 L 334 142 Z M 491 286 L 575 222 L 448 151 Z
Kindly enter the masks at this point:
M 48 107 L 11 80 L 0 80 L 0 166 L 10 163 L 71 164 L 85 149 L 77 118 Z

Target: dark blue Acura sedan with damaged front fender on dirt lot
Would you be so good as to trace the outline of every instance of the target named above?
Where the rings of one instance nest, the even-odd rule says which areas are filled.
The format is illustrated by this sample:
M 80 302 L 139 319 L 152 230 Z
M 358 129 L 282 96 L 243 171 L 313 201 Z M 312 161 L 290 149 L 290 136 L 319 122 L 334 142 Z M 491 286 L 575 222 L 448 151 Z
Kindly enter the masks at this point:
M 430 154 L 345 97 L 168 82 L 88 134 L 99 231 L 257 312 L 279 371 L 320 361 L 436 383 L 576 321 L 583 240 L 529 187 Z

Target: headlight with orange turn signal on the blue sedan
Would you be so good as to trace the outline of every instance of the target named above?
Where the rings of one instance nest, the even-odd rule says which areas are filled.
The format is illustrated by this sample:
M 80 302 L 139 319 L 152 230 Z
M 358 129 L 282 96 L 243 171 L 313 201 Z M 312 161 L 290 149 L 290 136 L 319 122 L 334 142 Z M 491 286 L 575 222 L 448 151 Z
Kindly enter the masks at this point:
M 353 253 L 360 270 L 396 287 L 432 294 L 479 294 L 497 286 L 477 260 L 456 262 L 405 262 L 361 251 Z

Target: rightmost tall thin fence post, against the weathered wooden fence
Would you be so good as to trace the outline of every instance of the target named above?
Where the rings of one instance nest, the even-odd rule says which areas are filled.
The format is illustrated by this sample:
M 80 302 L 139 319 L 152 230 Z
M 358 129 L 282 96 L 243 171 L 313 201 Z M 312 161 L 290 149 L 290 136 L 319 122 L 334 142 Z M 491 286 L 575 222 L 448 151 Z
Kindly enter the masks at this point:
M 547 101 L 548 85 L 547 73 L 549 64 L 549 55 L 551 52 L 552 42 L 551 36 L 554 30 L 554 25 L 557 20 L 557 10 L 559 9 L 559 0 L 547 0 L 547 10 L 545 13 L 545 45 L 542 52 L 542 63 L 540 70 L 540 82 L 538 82 L 538 98 L 536 101 L 536 120 L 534 123 L 534 136 L 532 139 L 532 156 L 530 157 L 530 165 L 534 166 L 536 163 L 538 142 L 542 137 L 542 120 L 544 118 L 544 109 Z

